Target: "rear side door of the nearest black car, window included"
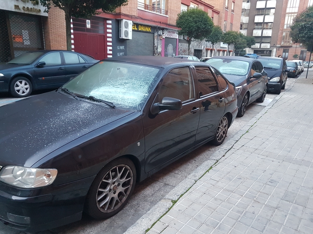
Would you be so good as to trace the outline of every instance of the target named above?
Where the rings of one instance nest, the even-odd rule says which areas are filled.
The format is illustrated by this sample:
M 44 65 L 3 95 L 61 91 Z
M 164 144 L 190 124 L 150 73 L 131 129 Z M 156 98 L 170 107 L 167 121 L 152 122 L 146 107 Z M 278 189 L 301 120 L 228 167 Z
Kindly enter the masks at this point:
M 218 122 L 224 115 L 225 97 L 209 67 L 195 66 L 196 86 L 199 90 L 200 119 L 196 142 L 198 144 L 215 134 Z

